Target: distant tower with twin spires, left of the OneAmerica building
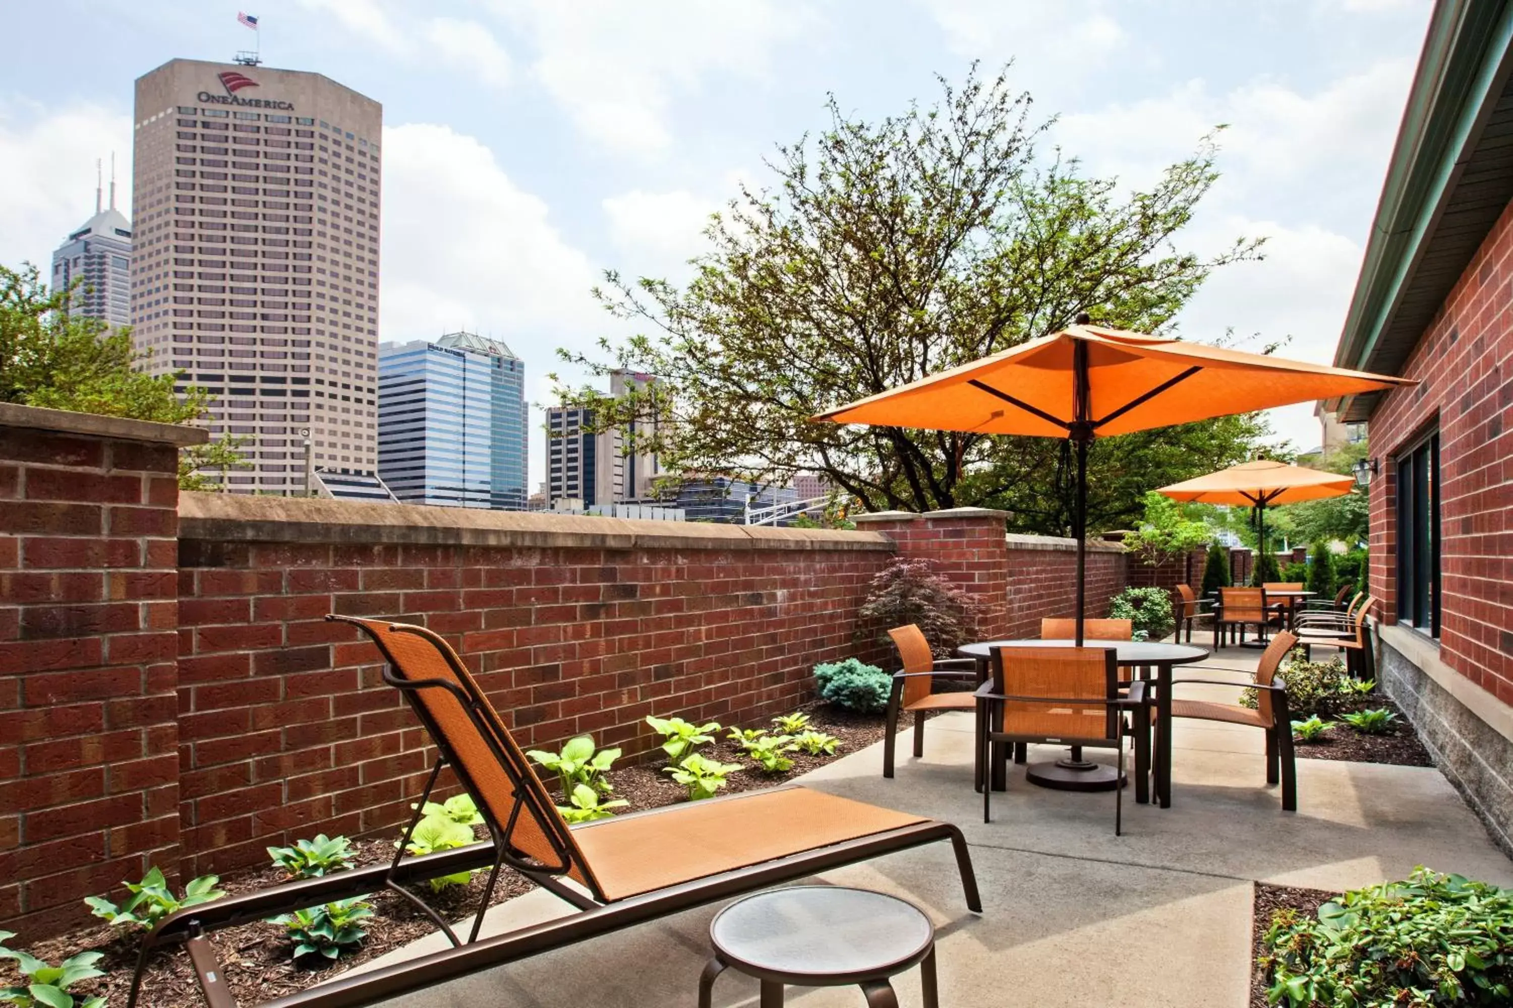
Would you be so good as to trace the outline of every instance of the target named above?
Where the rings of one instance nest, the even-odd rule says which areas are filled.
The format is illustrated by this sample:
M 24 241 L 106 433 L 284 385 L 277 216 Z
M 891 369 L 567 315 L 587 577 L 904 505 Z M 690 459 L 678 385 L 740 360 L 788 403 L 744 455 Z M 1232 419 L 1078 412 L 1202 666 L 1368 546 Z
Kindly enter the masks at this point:
M 74 290 L 70 314 L 112 326 L 132 320 L 132 222 L 115 209 L 115 154 L 110 156 L 110 203 L 103 206 L 101 165 L 95 162 L 95 213 L 53 252 L 53 290 Z

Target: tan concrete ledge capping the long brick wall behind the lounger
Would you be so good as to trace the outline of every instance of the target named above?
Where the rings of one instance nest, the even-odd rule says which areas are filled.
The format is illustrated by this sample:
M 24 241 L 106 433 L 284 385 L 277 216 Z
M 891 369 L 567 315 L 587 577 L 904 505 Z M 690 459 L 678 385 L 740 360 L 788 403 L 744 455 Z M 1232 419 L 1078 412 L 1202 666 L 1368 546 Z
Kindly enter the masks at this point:
M 894 549 L 893 540 L 878 532 L 198 493 L 179 497 L 179 538 L 219 543 L 393 543 L 599 550 Z

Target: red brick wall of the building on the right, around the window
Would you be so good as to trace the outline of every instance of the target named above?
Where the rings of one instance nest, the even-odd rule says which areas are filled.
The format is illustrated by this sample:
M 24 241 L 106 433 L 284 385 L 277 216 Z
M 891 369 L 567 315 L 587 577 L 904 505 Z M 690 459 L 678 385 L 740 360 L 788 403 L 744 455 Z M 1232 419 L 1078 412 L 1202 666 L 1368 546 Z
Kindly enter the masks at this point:
M 1440 657 L 1513 703 L 1513 206 L 1487 234 L 1371 417 L 1371 591 L 1396 618 L 1393 458 L 1439 425 Z

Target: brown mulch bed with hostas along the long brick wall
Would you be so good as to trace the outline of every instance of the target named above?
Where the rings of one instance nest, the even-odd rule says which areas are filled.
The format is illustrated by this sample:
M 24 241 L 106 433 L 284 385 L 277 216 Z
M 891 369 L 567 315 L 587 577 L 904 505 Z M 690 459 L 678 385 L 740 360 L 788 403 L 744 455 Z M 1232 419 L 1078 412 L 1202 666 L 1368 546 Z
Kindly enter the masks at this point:
M 720 793 L 750 790 L 753 787 L 770 787 L 797 774 L 823 766 L 843 756 L 865 748 L 884 736 L 882 715 L 852 715 L 825 706 L 805 707 L 809 713 L 809 727 L 816 731 L 826 731 L 841 739 L 835 756 L 805 756 L 790 753 L 793 769 L 785 774 L 769 775 L 760 768 L 747 768 L 732 772 L 726 778 L 726 786 Z M 900 728 L 911 725 L 909 715 L 900 718 Z M 766 727 L 766 725 L 743 725 Z M 723 737 L 716 745 L 701 750 L 726 763 L 750 763 L 740 750 Z M 908 742 L 905 742 L 908 745 Z M 660 756 L 660 753 L 658 753 Z M 631 807 L 625 812 L 640 809 L 655 809 L 687 801 L 687 792 L 667 774 L 661 772 L 664 760 L 649 765 L 625 766 L 610 772 L 610 783 L 614 786 L 614 798 L 629 799 Z M 357 866 L 386 863 L 393 857 L 393 842 L 398 839 L 398 828 L 392 834 L 378 839 L 354 840 Z M 487 839 L 487 831 L 477 827 L 480 839 Z M 268 889 L 286 881 L 281 870 L 266 866 L 239 869 L 221 877 L 219 889 L 227 895 L 241 895 L 259 889 Z M 480 899 L 486 872 L 474 875 L 468 886 L 451 886 L 440 893 L 430 893 L 427 886 L 416 892 L 448 920 L 458 920 L 472 914 Z M 501 870 L 495 886 L 490 905 L 501 904 L 514 896 L 523 895 L 536 886 L 508 869 Z M 121 896 L 121 893 L 115 893 Z M 216 957 L 221 961 L 225 982 L 238 1003 L 254 1005 L 259 1002 L 283 997 L 295 991 L 324 982 L 353 966 L 366 963 L 409 945 L 433 931 L 436 925 L 422 914 L 412 902 L 392 892 L 380 892 L 371 898 L 374 916 L 365 922 L 368 937 L 360 949 L 343 954 L 337 963 L 321 960 L 319 963 L 295 964 L 290 960 L 292 943 L 284 937 L 284 928 L 266 922 L 227 928 L 210 935 Z M 79 952 L 103 952 L 104 958 L 95 963 L 95 969 L 104 970 L 101 976 L 74 988 L 76 1000 L 82 1003 L 85 996 L 106 996 L 112 1008 L 126 1008 L 127 993 L 132 985 L 132 970 L 136 969 L 138 955 L 136 934 L 120 934 L 109 925 L 82 928 L 56 938 L 27 943 L 26 935 L 12 938 L 11 948 L 24 949 L 39 960 L 59 963 Z M 466 937 L 463 934 L 461 937 Z M 307 957 L 319 960 L 321 957 Z M 310 969 L 313 966 L 315 969 Z M 14 963 L 0 960 L 0 987 L 21 982 Z M 168 949 L 156 954 L 148 963 L 142 976 L 142 993 L 138 1003 L 144 1008 L 203 1008 L 200 984 L 189 966 L 189 957 L 182 949 Z

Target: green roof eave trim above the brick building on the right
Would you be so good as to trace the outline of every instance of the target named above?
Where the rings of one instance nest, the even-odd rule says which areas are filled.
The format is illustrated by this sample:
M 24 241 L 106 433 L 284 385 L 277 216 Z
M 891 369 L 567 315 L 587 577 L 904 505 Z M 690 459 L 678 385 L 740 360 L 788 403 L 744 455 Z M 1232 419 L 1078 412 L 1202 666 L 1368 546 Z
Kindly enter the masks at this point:
M 1381 334 L 1412 289 L 1419 260 L 1502 95 L 1510 53 L 1513 2 L 1436 3 L 1334 352 L 1337 366 L 1386 373 L 1403 366 L 1406 354 L 1381 352 Z

